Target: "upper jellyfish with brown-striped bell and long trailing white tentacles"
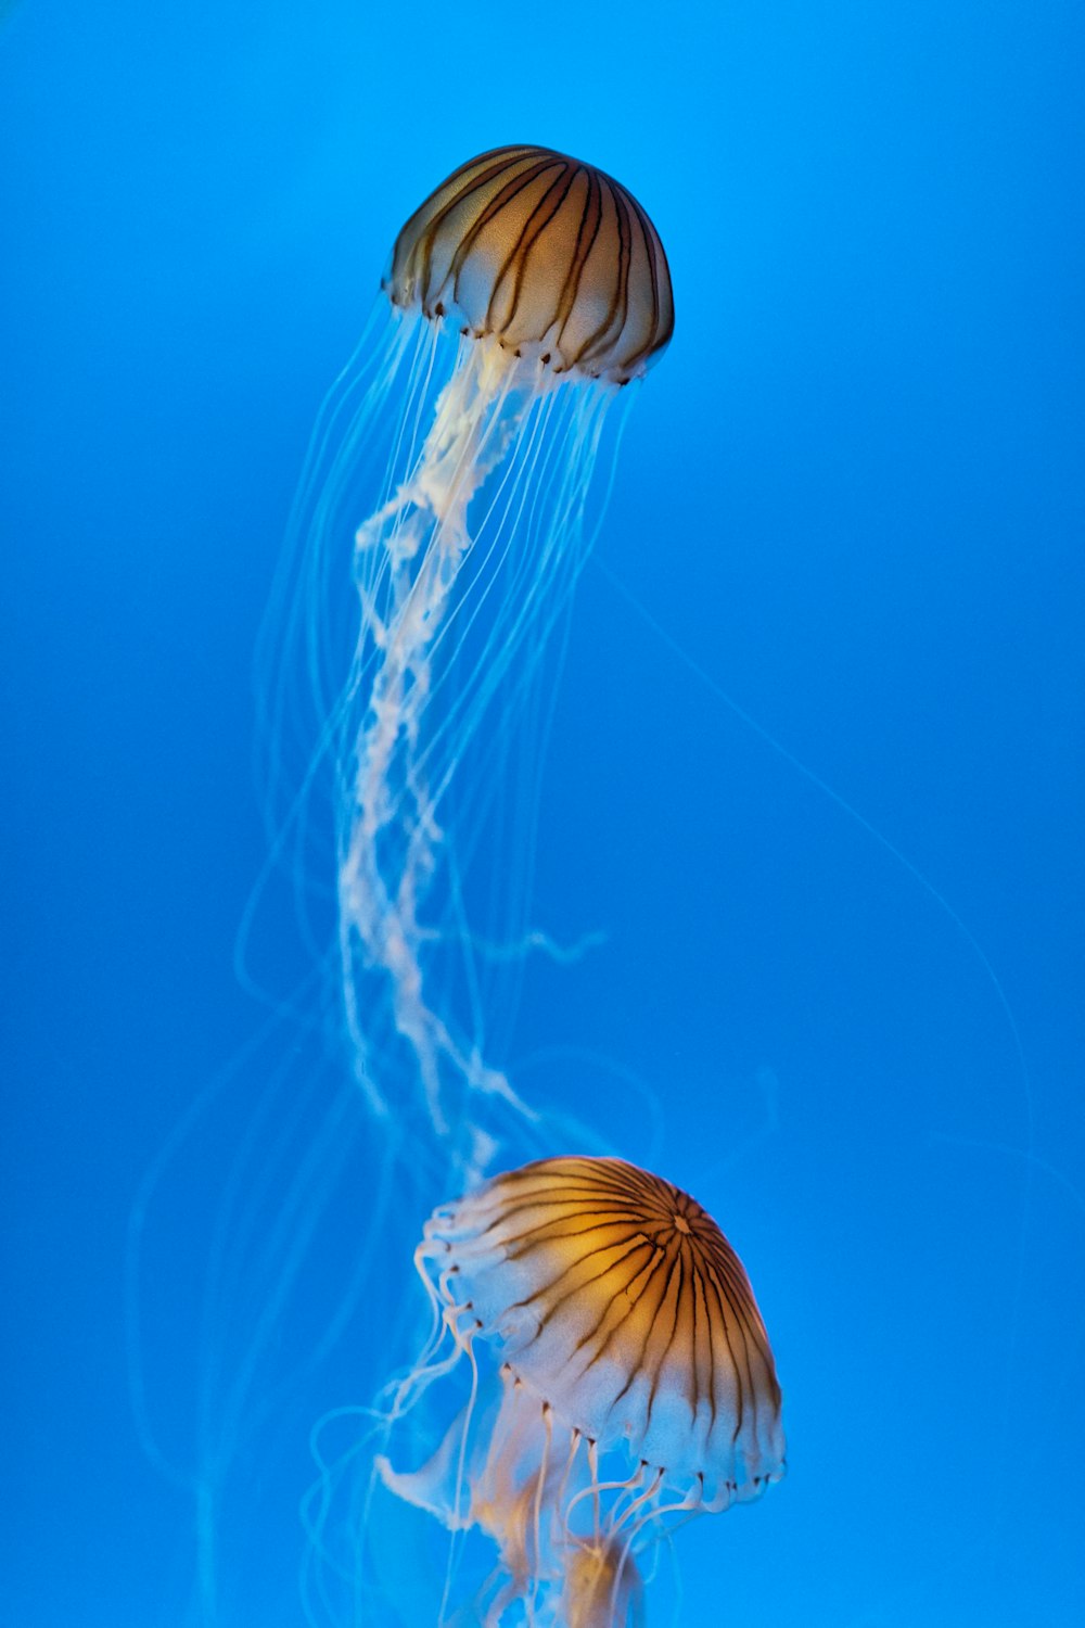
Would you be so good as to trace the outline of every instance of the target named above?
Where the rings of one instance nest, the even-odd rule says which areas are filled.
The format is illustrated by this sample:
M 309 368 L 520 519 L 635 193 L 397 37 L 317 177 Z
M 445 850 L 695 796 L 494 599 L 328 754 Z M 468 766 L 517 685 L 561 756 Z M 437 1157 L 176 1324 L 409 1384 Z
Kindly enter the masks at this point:
M 670 340 L 670 274 L 623 186 L 548 148 L 503 147 L 460 164 L 415 210 L 382 287 L 390 322 L 363 340 L 317 427 L 299 549 L 275 596 L 278 643 L 296 648 L 280 648 L 260 685 L 270 780 L 299 711 L 280 676 L 301 667 L 316 760 L 332 765 L 332 961 L 356 1079 L 400 1133 L 416 1114 L 481 1169 L 493 1143 L 472 1099 L 522 1104 L 483 1057 L 483 1017 L 455 1017 L 457 991 L 460 1009 L 486 1006 L 473 962 L 488 951 L 467 920 L 462 873 L 587 557 L 604 418 Z M 319 842 L 320 822 L 303 812 L 316 778 L 311 767 L 286 821 L 273 821 L 294 860 Z M 530 825 L 532 794 L 521 801 Z M 512 845 L 529 847 L 530 834 Z M 525 871 L 506 868 L 499 913 L 511 926 L 498 956 L 516 954 Z

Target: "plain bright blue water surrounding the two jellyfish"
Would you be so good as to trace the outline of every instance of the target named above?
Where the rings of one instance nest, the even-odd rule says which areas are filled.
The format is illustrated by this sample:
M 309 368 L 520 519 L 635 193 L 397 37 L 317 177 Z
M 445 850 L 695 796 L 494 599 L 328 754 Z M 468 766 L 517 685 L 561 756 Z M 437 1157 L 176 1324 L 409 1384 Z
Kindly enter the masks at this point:
M 509 140 L 628 182 L 675 280 L 540 801 L 532 915 L 604 941 L 529 961 L 501 1060 L 703 1198 L 773 1335 L 789 1475 L 682 1534 L 678 1620 L 1085 1620 L 1083 33 L 1046 0 L 7 10 L 5 1620 L 198 1620 L 194 1353 L 223 1395 L 246 1333 L 194 1319 L 272 1066 L 233 959 L 252 651 L 400 221 Z M 262 954 L 306 975 L 296 934 Z M 231 1065 L 133 1312 L 142 1184 Z M 343 1195 L 301 1324 L 366 1218 Z M 220 1623 L 303 1620 L 307 1431 L 382 1315 L 236 1447 Z

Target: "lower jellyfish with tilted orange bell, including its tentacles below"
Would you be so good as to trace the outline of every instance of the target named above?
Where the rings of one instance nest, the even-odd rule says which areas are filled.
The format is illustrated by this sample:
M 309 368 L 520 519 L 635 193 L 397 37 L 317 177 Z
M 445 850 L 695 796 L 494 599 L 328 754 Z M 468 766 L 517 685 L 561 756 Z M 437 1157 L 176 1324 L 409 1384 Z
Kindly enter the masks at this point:
M 535 1161 L 438 1208 L 415 1263 L 434 1332 L 392 1415 L 460 1366 L 468 1395 L 420 1468 L 386 1454 L 377 1473 L 454 1538 L 496 1545 L 464 1621 L 626 1628 L 639 1556 L 673 1522 L 782 1477 L 750 1281 L 670 1182 L 615 1158 Z

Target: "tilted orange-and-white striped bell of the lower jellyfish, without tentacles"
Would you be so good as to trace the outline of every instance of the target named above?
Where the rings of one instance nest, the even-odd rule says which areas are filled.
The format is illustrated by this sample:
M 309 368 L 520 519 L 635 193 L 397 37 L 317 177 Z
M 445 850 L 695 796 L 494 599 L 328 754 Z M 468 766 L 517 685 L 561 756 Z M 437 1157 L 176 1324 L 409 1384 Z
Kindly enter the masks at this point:
M 517 1379 L 600 1451 L 621 1441 L 721 1508 L 779 1467 L 779 1385 L 739 1257 L 706 1211 L 621 1159 L 545 1159 L 426 1226 Z

